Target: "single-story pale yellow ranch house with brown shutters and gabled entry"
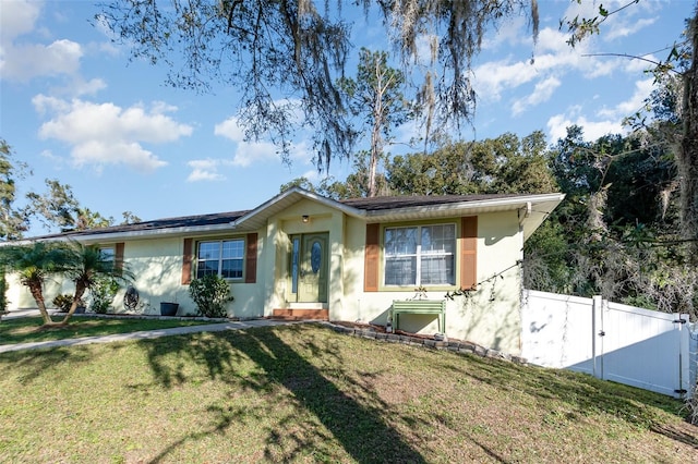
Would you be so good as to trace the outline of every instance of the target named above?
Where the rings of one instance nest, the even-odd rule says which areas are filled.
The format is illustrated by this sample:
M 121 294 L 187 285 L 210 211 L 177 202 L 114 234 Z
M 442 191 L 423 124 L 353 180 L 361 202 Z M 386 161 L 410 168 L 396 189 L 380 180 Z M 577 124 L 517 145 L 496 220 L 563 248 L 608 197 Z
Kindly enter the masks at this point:
M 444 301 L 434 314 L 401 314 L 399 329 L 520 353 L 524 242 L 564 195 L 396 196 L 333 200 L 290 188 L 248 211 L 160 219 L 36 240 L 95 244 L 134 273 L 145 313 L 177 301 L 194 314 L 192 279 L 230 282 L 228 315 L 386 325 L 394 301 Z M 47 302 L 68 283 L 47 288 Z M 35 306 L 10 282 L 10 309 Z M 122 310 L 123 290 L 115 300 Z

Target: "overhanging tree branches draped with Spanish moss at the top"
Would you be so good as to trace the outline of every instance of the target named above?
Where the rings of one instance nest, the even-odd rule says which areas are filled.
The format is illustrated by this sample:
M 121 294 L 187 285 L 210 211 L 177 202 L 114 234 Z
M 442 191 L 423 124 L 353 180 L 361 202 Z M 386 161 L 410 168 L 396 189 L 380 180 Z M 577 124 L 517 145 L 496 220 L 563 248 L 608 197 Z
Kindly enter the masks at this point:
M 208 90 L 237 88 L 239 120 L 249 138 L 267 137 L 289 159 L 298 124 L 314 129 L 315 161 L 348 157 L 354 142 L 337 78 L 351 51 L 348 17 L 377 17 L 417 82 L 426 134 L 470 121 L 472 57 L 490 25 L 537 0 L 112 0 L 97 21 L 134 59 L 169 69 L 168 83 Z M 374 10 L 376 9 L 376 10 Z M 429 57 L 420 53 L 428 44 Z

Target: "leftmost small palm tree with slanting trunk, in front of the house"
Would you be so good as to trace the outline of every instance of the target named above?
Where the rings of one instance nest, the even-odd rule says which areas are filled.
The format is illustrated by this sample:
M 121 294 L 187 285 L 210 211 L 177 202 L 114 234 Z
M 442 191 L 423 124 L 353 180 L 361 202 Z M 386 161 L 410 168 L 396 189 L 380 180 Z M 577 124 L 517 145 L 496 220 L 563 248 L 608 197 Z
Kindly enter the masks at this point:
M 65 258 L 61 246 L 46 242 L 0 248 L 0 264 L 15 272 L 20 283 L 29 290 L 41 313 L 44 325 L 55 323 L 46 309 L 44 283 L 48 276 L 62 271 Z

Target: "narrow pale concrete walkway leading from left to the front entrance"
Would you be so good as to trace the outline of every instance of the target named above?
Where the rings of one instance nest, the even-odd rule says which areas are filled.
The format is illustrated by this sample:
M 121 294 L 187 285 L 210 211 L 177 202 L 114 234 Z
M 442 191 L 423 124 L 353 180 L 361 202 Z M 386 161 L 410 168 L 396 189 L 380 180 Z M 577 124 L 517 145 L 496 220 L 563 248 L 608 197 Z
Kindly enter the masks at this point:
M 5 316 L 3 316 L 3 319 L 4 318 Z M 0 345 L 0 353 L 7 353 L 7 352 L 20 351 L 20 350 L 36 350 L 36 349 L 44 349 L 44 347 L 85 345 L 89 343 L 111 343 L 111 342 L 121 342 L 125 340 L 156 339 L 158 337 L 184 335 L 189 333 L 198 333 L 198 332 L 219 332 L 222 330 L 242 330 L 242 329 L 250 329 L 253 327 L 270 327 L 270 326 L 280 326 L 280 325 L 288 325 L 288 323 L 298 323 L 298 322 L 289 322 L 286 320 L 252 319 L 252 320 L 245 320 L 245 321 L 206 323 L 201 326 L 174 327 L 171 329 L 146 330 L 142 332 L 116 333 L 112 335 L 83 337 L 80 339 L 67 339 L 67 340 L 55 340 L 55 341 L 48 341 L 48 342 L 33 342 L 33 343 L 17 343 L 12 345 Z

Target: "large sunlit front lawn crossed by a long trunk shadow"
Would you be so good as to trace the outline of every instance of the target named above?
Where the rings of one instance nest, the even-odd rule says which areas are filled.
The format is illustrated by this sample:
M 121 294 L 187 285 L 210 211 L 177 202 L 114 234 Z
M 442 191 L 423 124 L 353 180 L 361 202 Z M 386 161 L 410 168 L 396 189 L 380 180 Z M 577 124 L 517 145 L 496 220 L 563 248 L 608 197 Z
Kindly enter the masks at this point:
M 696 462 L 681 407 L 570 371 L 280 326 L 0 354 L 0 462 Z

